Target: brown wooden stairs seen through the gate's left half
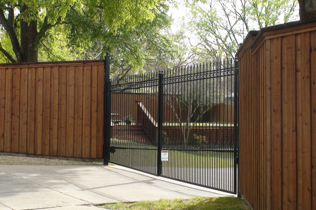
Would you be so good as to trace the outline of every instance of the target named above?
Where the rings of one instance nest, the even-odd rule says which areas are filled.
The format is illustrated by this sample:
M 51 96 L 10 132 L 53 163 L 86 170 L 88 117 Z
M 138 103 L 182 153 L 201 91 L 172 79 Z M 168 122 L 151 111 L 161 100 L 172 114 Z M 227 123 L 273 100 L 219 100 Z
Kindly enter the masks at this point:
M 113 138 L 138 143 L 153 143 L 140 125 L 114 125 Z

